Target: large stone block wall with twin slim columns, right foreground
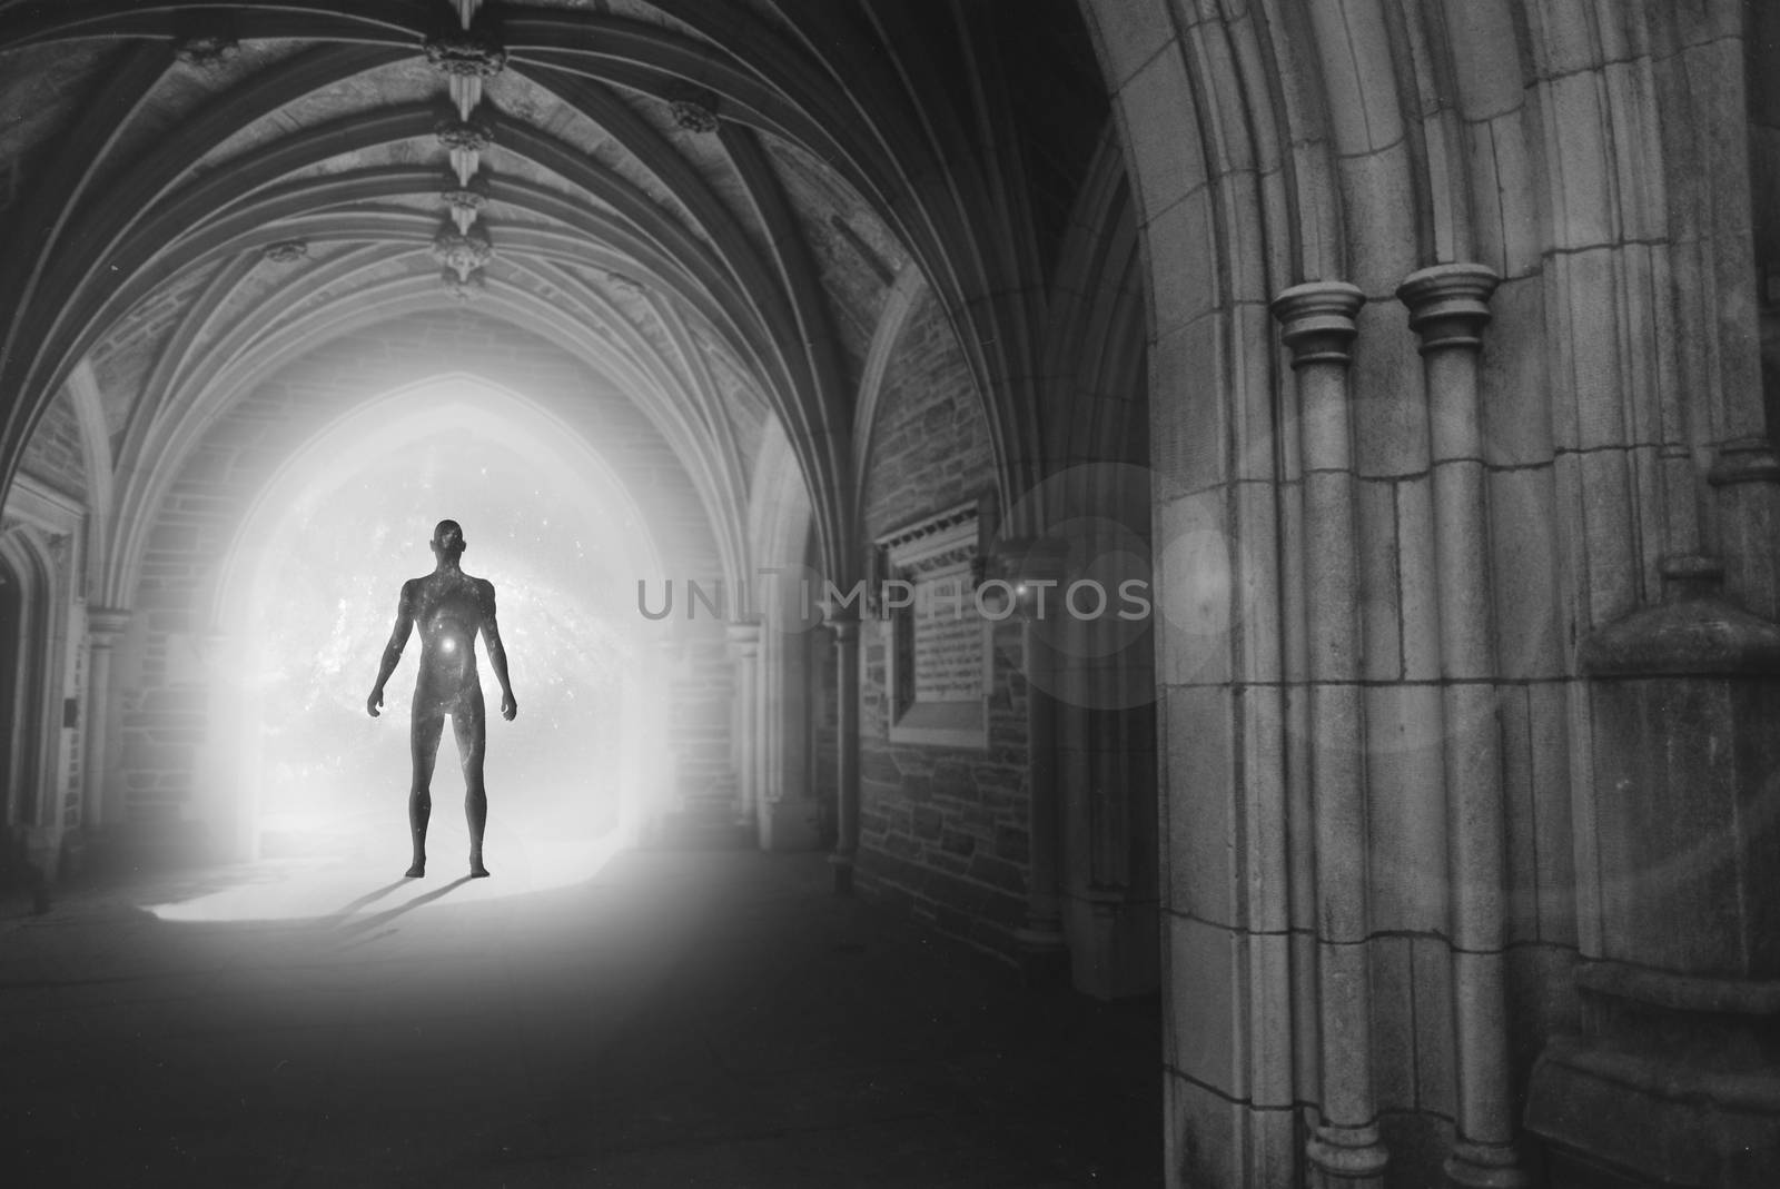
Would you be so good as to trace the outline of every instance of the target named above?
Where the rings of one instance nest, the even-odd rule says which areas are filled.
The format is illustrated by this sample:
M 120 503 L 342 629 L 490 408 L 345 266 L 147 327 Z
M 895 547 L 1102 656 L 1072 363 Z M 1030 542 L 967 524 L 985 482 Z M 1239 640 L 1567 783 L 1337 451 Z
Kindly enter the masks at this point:
M 1148 267 L 1161 602 L 1187 625 L 1157 641 L 1169 1184 L 1419 1189 L 1447 1159 L 1540 1184 L 1534 1056 L 1586 1023 L 1575 970 L 1623 895 L 1577 650 L 1702 554 L 1773 618 L 1748 511 L 1769 472 L 1737 473 L 1780 374 L 1750 294 L 1752 240 L 1759 267 L 1780 242 L 1773 14 L 1084 7 Z M 1253 62 L 1278 105 L 1250 101 Z M 1474 338 L 1410 326 L 1404 281 L 1477 265 L 1501 283 Z M 1337 281 L 1365 304 L 1317 340 L 1292 304 Z M 1175 568 L 1200 532 L 1210 564 Z

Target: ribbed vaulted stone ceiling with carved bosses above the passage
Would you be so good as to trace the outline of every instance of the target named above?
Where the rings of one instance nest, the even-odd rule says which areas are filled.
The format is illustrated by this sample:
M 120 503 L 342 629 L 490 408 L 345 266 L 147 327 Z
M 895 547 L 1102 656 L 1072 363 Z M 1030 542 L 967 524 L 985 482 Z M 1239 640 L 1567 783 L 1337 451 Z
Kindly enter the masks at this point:
M 854 393 L 906 269 L 1004 481 L 1038 457 L 1104 125 L 1072 0 L 0 0 L 0 479 L 82 363 L 117 500 L 150 500 L 256 377 L 468 303 L 714 482 L 780 418 L 846 573 Z

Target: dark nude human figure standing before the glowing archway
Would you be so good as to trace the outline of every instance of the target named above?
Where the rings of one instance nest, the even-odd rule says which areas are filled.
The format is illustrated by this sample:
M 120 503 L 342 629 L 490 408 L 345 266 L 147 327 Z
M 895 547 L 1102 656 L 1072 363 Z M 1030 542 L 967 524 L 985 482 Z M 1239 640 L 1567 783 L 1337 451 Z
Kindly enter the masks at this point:
M 408 634 L 420 625 L 420 676 L 415 680 L 415 712 L 409 749 L 415 780 L 408 790 L 408 829 L 415 842 L 415 861 L 408 876 L 427 874 L 427 821 L 433 817 L 433 764 L 440 753 L 445 716 L 457 737 L 463 764 L 463 815 L 470 824 L 470 876 L 482 878 L 482 828 L 488 822 L 488 789 L 482 783 L 482 753 L 488 748 L 488 710 L 482 682 L 475 673 L 475 635 L 482 634 L 488 664 L 500 680 L 500 717 L 513 721 L 520 705 L 507 682 L 507 650 L 495 623 L 495 584 L 473 578 L 457 568 L 465 550 L 463 529 L 456 520 L 441 520 L 433 529 L 433 573 L 402 582 L 402 602 L 395 609 L 395 628 L 383 648 L 377 683 L 365 700 L 365 710 L 377 717 L 383 685 L 402 659 Z

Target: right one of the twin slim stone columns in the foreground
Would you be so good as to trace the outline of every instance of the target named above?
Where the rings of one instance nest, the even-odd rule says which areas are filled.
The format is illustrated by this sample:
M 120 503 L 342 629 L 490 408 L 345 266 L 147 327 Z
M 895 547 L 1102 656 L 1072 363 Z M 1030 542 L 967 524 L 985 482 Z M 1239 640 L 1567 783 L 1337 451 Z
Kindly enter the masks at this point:
M 1440 708 L 1447 797 L 1449 931 L 1458 1107 L 1452 1185 L 1524 1185 L 1508 1066 L 1502 742 L 1495 717 L 1488 491 L 1477 402 L 1479 338 L 1499 278 L 1447 263 L 1397 290 L 1420 336 L 1433 447 Z

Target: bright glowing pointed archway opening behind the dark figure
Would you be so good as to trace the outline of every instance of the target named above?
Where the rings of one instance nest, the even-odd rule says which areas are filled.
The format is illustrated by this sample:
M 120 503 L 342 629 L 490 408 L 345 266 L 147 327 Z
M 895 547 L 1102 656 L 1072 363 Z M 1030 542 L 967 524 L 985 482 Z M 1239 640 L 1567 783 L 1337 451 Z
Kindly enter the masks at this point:
M 657 789 L 662 700 L 635 614 L 659 573 L 643 511 L 577 434 L 470 376 L 361 406 L 301 447 L 247 513 L 219 582 L 210 819 L 235 853 L 288 869 L 408 865 L 411 637 L 381 717 L 367 694 L 400 586 L 433 570 L 429 536 L 457 520 L 466 573 L 497 591 L 520 712 L 477 646 L 488 703 L 486 856 L 479 895 L 575 883 L 635 837 Z M 217 666 L 219 669 L 224 666 Z M 461 874 L 463 778 L 447 724 L 433 776 L 429 874 Z M 326 885 L 328 881 L 320 881 Z M 255 881 L 162 917 L 285 917 L 336 908 L 315 879 Z M 312 902 L 313 901 L 313 902 Z

